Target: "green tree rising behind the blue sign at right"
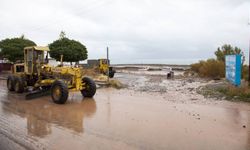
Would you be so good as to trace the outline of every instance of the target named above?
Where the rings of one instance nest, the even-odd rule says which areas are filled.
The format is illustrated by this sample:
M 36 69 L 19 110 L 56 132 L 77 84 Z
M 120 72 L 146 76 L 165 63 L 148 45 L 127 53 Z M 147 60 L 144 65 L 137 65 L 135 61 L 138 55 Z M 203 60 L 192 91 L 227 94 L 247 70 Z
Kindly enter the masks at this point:
M 245 55 L 243 51 L 238 47 L 233 47 L 230 44 L 225 44 L 222 47 L 218 47 L 217 51 L 214 53 L 217 60 L 225 62 L 225 55 L 241 54 L 243 57 L 243 62 L 245 61 Z

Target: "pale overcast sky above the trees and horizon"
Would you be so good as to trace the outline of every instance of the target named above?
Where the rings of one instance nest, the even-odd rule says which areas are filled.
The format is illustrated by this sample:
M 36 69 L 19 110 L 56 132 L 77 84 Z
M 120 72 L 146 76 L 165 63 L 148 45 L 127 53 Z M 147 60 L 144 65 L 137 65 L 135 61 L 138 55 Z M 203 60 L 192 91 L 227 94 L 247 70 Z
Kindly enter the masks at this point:
M 250 0 L 0 0 L 0 40 L 47 45 L 66 36 L 89 58 L 187 64 L 230 43 L 248 52 Z M 248 55 L 248 53 L 246 53 Z

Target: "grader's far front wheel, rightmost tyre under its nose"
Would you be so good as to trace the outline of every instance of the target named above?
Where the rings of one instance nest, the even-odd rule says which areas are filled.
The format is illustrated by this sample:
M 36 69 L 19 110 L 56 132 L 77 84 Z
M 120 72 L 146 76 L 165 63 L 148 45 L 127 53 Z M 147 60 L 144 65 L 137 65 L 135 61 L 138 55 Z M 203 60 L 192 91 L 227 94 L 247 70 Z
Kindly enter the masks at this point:
M 85 83 L 85 89 L 81 90 L 82 96 L 90 98 L 93 97 L 96 92 L 95 82 L 88 77 L 84 77 L 82 82 Z

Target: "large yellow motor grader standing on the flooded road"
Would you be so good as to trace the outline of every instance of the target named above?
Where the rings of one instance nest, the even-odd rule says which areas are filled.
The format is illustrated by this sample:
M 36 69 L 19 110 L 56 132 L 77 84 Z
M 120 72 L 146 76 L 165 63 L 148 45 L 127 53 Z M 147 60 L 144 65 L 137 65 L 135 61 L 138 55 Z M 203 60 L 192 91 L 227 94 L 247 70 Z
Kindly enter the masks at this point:
M 31 46 L 24 48 L 24 63 L 15 64 L 8 76 L 9 91 L 23 93 L 30 91 L 30 99 L 43 94 L 51 94 L 57 104 L 64 104 L 70 91 L 81 91 L 84 97 L 93 97 L 96 93 L 95 82 L 84 77 L 82 70 L 76 67 L 57 67 L 48 64 L 48 47 Z

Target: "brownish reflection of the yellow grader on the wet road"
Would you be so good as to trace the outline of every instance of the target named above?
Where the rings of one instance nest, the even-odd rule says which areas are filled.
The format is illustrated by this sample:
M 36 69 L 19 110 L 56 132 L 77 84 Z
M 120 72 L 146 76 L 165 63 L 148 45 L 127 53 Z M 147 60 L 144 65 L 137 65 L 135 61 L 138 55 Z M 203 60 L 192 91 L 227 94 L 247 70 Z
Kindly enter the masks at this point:
M 2 109 L 5 113 L 26 118 L 28 134 L 45 137 L 52 132 L 51 123 L 76 133 L 83 133 L 84 118 L 91 117 L 95 113 L 96 103 L 93 99 L 87 99 L 62 109 L 59 105 L 48 104 L 46 100 L 35 103 L 17 100 L 15 103 L 4 101 Z

